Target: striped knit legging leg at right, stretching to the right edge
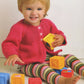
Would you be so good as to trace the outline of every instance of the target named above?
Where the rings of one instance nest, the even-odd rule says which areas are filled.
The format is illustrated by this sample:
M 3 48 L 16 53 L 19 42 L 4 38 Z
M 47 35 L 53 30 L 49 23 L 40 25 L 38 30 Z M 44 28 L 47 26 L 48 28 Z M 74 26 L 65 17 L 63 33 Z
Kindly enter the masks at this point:
M 65 57 L 65 64 L 72 68 L 76 73 L 81 76 L 84 76 L 84 63 L 82 63 L 74 55 L 63 55 Z

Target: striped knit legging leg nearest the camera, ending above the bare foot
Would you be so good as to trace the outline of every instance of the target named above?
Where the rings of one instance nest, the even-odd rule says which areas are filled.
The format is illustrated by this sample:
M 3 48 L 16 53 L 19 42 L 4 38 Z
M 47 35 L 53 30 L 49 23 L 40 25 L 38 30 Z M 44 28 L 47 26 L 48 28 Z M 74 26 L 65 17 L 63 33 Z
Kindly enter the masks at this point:
M 61 77 L 48 64 L 29 64 L 21 68 L 21 72 L 29 77 L 40 77 L 49 84 L 59 84 L 58 80 Z

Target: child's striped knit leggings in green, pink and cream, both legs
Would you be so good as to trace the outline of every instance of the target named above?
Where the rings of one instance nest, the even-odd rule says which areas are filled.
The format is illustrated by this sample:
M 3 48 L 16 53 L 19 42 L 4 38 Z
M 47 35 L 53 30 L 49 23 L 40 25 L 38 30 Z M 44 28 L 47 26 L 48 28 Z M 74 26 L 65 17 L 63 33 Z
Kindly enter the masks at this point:
M 81 76 L 84 76 L 84 63 L 73 55 L 62 55 L 65 57 L 65 65 L 69 66 Z M 49 60 L 50 56 L 47 56 L 46 60 Z M 42 80 L 49 84 L 59 84 L 59 78 L 62 77 L 56 73 L 47 63 L 33 63 L 29 65 L 23 65 L 21 72 L 29 77 L 40 77 Z

